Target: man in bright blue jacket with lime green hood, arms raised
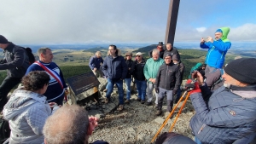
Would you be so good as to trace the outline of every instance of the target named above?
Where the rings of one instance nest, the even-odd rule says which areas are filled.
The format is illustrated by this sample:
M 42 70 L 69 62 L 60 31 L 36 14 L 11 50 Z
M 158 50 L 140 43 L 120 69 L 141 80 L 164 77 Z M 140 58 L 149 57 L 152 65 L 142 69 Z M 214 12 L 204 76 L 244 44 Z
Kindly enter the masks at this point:
M 217 68 L 222 68 L 224 65 L 225 55 L 231 47 L 230 40 L 227 38 L 229 32 L 229 27 L 222 27 L 215 32 L 215 40 L 212 37 L 207 37 L 207 40 L 204 40 L 203 37 L 201 38 L 200 47 L 208 49 L 206 77 L 208 73 L 213 72 Z

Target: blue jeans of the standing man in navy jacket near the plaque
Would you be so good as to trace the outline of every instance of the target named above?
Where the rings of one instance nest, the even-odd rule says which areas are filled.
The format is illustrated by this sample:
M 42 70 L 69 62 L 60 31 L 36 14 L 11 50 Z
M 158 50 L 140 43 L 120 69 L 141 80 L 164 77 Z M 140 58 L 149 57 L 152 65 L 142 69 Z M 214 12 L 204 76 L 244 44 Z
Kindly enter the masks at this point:
M 116 84 L 119 90 L 119 104 L 124 105 L 124 89 L 123 89 L 123 81 L 122 80 L 111 80 L 108 78 L 108 90 L 106 93 L 106 97 L 109 99 L 111 93 L 113 92 L 113 85 Z

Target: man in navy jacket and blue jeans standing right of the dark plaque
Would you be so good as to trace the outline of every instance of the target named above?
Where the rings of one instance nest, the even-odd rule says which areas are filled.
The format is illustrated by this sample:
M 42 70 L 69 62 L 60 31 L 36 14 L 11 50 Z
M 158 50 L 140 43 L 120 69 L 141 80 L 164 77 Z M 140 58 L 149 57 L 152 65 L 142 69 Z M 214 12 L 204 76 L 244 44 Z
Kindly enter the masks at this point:
M 115 45 L 109 45 L 109 54 L 102 65 L 102 70 L 105 76 L 108 77 L 108 90 L 106 94 L 105 103 L 108 103 L 110 95 L 113 91 L 113 84 L 116 84 L 119 91 L 119 107 L 117 110 L 121 111 L 124 108 L 124 89 L 123 79 L 125 79 L 128 68 L 123 56 L 118 55 L 119 49 Z

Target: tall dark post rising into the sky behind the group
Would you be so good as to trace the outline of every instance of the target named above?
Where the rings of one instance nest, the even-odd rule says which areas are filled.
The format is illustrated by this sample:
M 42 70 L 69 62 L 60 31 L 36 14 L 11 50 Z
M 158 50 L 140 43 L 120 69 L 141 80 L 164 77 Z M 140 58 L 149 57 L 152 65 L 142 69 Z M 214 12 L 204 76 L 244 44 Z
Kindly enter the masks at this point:
M 167 26 L 166 26 L 166 43 L 174 42 L 175 30 L 177 24 L 177 13 L 180 0 L 170 0 L 169 12 L 167 17 Z

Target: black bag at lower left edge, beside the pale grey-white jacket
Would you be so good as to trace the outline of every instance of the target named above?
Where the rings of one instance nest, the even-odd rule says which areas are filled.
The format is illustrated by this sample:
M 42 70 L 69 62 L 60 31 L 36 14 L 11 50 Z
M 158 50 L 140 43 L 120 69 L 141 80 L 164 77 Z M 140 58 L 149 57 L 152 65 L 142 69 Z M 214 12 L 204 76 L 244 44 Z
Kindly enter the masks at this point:
M 10 129 L 9 122 L 4 120 L 2 116 L 0 116 L 0 143 L 9 138 Z

